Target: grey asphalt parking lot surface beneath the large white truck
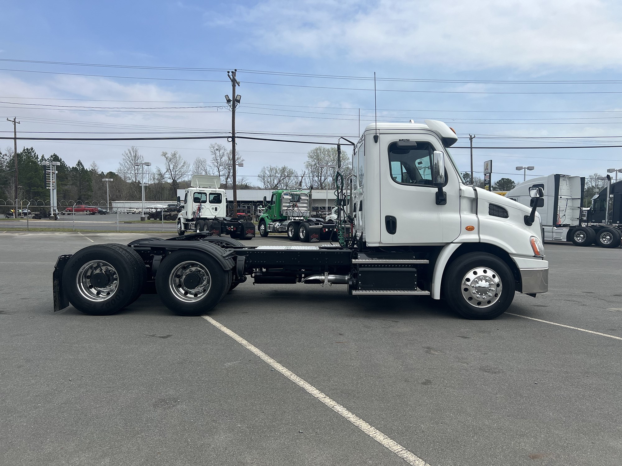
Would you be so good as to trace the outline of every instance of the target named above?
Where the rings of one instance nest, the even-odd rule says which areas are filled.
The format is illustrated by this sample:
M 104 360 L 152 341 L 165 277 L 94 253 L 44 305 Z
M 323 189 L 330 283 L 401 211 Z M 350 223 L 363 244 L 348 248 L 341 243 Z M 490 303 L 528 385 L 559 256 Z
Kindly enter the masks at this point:
M 113 316 L 50 312 L 58 255 L 144 235 L 0 233 L 0 464 L 408 464 L 157 295 Z M 429 465 L 618 465 L 622 250 L 546 252 L 549 293 L 493 321 L 252 280 L 209 316 Z

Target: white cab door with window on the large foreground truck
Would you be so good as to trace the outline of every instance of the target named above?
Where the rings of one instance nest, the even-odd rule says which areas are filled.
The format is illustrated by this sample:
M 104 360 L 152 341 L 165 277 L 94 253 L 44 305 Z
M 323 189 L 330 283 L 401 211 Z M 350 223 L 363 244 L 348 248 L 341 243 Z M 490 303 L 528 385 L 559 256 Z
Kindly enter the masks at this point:
M 398 148 L 400 139 L 415 148 Z M 460 185 L 443 145 L 432 134 L 380 135 L 380 242 L 446 244 L 460 235 Z M 435 150 L 445 152 L 446 204 L 432 183 Z

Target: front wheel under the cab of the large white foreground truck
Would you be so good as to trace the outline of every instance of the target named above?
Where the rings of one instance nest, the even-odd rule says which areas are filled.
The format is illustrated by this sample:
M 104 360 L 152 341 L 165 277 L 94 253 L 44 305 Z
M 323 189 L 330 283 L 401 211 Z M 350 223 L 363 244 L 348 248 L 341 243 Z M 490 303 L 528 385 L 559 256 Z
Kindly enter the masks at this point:
M 448 303 L 466 319 L 494 319 L 514 299 L 516 285 L 508 264 L 485 252 L 470 252 L 449 265 L 444 290 Z

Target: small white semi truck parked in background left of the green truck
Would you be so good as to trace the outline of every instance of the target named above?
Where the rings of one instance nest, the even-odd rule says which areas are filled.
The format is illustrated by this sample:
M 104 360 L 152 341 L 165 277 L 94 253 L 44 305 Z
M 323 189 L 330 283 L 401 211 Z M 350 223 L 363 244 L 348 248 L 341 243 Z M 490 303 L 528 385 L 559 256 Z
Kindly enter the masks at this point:
M 220 177 L 193 175 L 190 188 L 185 190 L 177 215 L 177 234 L 207 231 L 211 236 L 230 235 L 236 239 L 253 239 L 255 224 L 226 216 L 226 194 L 220 189 Z

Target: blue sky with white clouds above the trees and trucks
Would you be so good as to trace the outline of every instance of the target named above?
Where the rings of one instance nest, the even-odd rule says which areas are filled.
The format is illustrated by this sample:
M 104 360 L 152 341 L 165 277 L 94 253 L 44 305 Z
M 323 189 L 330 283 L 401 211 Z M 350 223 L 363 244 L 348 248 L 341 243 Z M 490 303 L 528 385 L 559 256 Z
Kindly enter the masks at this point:
M 377 83 L 379 120 L 442 119 L 462 137 L 476 134 L 475 170 L 481 171 L 483 162 L 492 158 L 494 171 L 501 173 L 493 175 L 493 180 L 501 176 L 522 180 L 522 172 L 514 169 L 516 165 L 536 166 L 531 172 L 534 175 L 588 175 L 622 167 L 622 148 L 478 149 L 478 145 L 622 143 L 622 125 L 618 123 L 622 121 L 622 6 L 619 2 L 2 1 L 0 8 L 4 20 L 0 38 L 2 59 L 238 68 L 366 78 L 330 79 L 239 71 L 242 105 L 237 129 L 240 132 L 356 137 L 358 109 L 361 109 L 361 127 L 373 118 L 373 81 L 369 78 L 375 71 L 381 78 Z M 226 108 L 132 112 L 32 105 L 222 106 L 224 94 L 231 92 L 224 71 L 19 62 L 0 62 L 0 68 L 0 100 L 5 102 L 0 104 L 0 121 L 17 116 L 22 121 L 20 131 L 147 131 L 165 127 L 224 132 L 230 129 L 230 113 Z M 77 76 L 80 74 L 136 79 Z M 386 81 L 386 78 L 433 82 Z M 1 128 L 11 129 L 9 122 Z M 225 140 L 222 142 L 227 144 Z M 468 139 L 462 139 L 458 145 L 467 143 Z M 56 152 L 70 163 L 80 158 L 87 166 L 95 161 L 103 170 L 115 170 L 129 144 L 32 142 L 29 145 L 34 145 L 39 153 Z M 206 157 L 209 142 L 134 144 L 146 160 L 157 165 L 162 150 L 177 149 L 191 163 L 195 157 Z M 2 147 L 7 145 L 9 141 Z M 305 152 L 311 147 L 239 140 L 238 150 L 246 159 L 240 174 L 253 181 L 259 169 L 270 164 L 287 164 L 300 170 Z M 452 153 L 460 168 L 468 170 L 468 150 L 456 148 Z

